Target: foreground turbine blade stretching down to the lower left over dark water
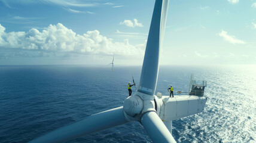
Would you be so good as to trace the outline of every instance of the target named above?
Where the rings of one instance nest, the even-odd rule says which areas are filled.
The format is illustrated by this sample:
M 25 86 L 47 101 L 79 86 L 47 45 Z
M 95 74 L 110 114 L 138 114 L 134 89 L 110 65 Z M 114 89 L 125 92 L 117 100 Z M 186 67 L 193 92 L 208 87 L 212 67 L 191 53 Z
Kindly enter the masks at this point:
M 53 130 L 30 142 L 66 142 L 89 133 L 127 123 L 123 107 L 114 108 L 86 117 L 71 125 Z

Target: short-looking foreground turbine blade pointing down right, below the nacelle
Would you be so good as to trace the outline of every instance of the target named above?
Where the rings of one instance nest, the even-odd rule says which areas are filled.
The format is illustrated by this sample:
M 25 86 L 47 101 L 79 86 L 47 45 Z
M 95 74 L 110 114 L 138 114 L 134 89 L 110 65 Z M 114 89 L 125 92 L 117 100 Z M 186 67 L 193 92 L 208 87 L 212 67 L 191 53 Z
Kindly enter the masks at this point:
M 176 142 L 156 112 L 145 113 L 141 118 L 141 123 L 153 142 Z

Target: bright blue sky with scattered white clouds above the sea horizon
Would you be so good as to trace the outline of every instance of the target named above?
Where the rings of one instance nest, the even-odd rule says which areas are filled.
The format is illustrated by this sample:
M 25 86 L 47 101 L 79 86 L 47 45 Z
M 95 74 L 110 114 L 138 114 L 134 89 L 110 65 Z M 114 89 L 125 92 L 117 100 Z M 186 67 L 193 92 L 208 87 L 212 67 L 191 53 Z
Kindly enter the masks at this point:
M 0 65 L 143 63 L 154 0 L 0 0 Z M 160 65 L 256 64 L 256 0 L 171 0 Z

